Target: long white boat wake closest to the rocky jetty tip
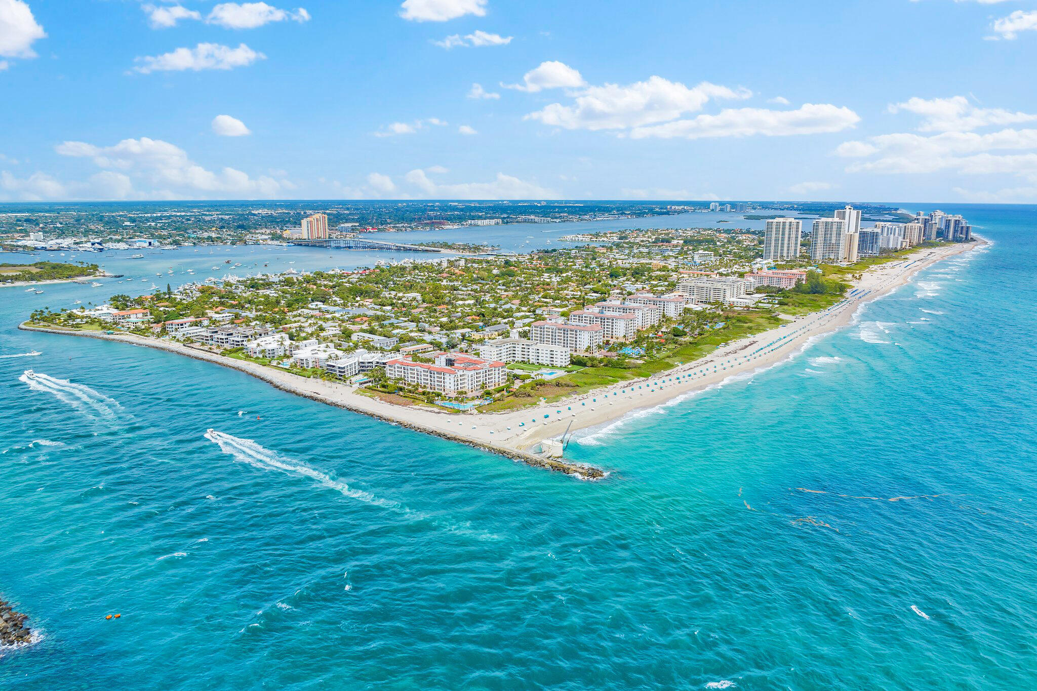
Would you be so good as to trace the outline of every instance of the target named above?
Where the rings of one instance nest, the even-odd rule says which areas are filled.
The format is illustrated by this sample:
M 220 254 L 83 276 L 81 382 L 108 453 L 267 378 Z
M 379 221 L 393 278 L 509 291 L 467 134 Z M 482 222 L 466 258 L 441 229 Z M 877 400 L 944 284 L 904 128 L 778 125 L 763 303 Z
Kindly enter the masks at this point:
M 353 499 L 359 499 L 364 503 L 369 503 L 374 507 L 380 507 L 382 509 L 388 509 L 396 513 L 400 513 L 407 516 L 413 517 L 415 520 L 427 520 L 433 525 L 443 527 L 452 532 L 468 534 L 478 537 L 480 540 L 494 540 L 497 539 L 496 536 L 492 536 L 484 530 L 477 530 L 468 528 L 464 525 L 458 525 L 455 523 L 443 523 L 439 519 L 428 516 L 427 514 L 412 511 L 398 501 L 393 501 L 391 499 L 384 499 L 382 497 L 375 496 L 370 492 L 365 492 L 364 490 L 354 489 L 349 487 L 344 482 L 333 480 L 328 474 L 320 472 L 319 470 L 314 470 L 313 468 L 302 465 L 298 461 L 292 461 L 291 459 L 283 458 L 279 456 L 276 452 L 273 452 L 261 444 L 255 442 L 252 439 L 243 439 L 241 437 L 235 437 L 231 434 L 226 434 L 224 432 L 218 432 L 217 430 L 207 430 L 204 437 L 209 441 L 215 442 L 220 450 L 234 457 L 234 460 L 241 461 L 242 463 L 247 463 L 253 467 L 262 470 L 283 470 L 289 473 L 297 473 L 315 480 L 317 484 L 329 489 L 336 490 L 343 496 L 347 496 Z

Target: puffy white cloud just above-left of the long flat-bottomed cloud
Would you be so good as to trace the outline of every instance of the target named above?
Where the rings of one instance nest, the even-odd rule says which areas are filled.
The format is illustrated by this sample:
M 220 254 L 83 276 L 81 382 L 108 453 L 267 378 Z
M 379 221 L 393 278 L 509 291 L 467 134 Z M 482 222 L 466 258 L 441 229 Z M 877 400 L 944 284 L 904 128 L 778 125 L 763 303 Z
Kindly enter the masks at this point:
M 750 95 L 748 90 L 709 82 L 689 88 L 680 82 L 650 77 L 626 86 L 589 86 L 576 92 L 576 99 L 569 106 L 551 104 L 526 117 L 566 129 L 623 129 L 665 122 L 699 111 L 711 98 L 747 98 Z

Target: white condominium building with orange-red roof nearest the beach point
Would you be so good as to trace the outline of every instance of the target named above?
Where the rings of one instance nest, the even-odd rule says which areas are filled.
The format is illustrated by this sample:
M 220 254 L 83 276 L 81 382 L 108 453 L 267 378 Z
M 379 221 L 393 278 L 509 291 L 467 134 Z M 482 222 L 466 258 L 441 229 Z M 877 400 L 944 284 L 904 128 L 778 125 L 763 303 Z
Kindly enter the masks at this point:
M 500 386 L 507 382 L 507 369 L 499 361 L 440 352 L 435 364 L 416 363 L 410 357 L 390 359 L 386 363 L 386 376 L 453 396 Z

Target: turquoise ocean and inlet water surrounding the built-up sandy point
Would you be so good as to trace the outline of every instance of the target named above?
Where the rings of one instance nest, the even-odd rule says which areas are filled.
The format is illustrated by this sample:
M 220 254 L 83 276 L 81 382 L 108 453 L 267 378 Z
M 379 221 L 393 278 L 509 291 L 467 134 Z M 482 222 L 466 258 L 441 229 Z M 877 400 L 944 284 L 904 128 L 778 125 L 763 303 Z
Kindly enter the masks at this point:
M 1037 207 L 945 210 L 993 244 L 580 435 L 599 483 L 16 329 L 217 256 L 381 256 L 121 253 L 131 283 L 0 289 L 0 593 L 41 632 L 0 687 L 1037 687 Z

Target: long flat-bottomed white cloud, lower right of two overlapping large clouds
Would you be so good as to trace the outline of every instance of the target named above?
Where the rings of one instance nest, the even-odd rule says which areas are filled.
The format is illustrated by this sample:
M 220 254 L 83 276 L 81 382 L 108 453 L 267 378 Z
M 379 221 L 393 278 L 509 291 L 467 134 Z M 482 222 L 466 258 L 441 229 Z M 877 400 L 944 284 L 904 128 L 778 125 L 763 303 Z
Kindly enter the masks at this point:
M 840 132 L 860 122 L 860 116 L 846 107 L 831 104 L 804 104 L 790 111 L 763 108 L 726 109 L 717 115 L 635 127 L 634 139 L 702 139 L 712 137 L 787 137 Z

